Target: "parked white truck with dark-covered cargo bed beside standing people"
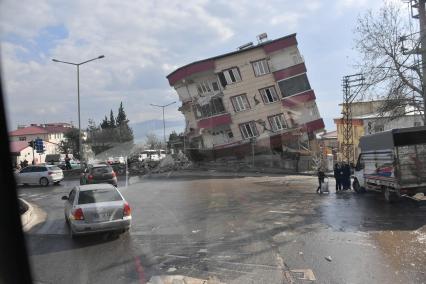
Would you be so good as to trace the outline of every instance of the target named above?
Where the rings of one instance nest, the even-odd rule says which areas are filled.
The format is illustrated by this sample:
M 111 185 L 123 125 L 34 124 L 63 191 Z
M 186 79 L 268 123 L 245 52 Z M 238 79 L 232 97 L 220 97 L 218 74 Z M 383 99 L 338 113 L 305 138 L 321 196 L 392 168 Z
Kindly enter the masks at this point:
M 399 128 L 361 137 L 354 169 L 356 192 L 379 191 L 386 201 L 426 200 L 426 127 Z

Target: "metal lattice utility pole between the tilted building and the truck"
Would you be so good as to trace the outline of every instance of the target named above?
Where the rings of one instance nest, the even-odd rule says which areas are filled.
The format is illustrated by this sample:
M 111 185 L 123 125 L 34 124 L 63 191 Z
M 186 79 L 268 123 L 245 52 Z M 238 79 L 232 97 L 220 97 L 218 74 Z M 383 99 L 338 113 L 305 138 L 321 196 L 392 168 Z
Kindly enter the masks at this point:
M 342 105 L 342 128 L 343 128 L 343 141 L 341 144 L 341 151 L 343 160 L 348 164 L 355 162 L 355 149 L 353 140 L 353 123 L 352 123 L 352 102 L 361 90 L 364 84 L 364 77 L 362 74 L 353 74 L 343 77 L 343 105 Z M 352 92 L 351 89 L 355 91 Z

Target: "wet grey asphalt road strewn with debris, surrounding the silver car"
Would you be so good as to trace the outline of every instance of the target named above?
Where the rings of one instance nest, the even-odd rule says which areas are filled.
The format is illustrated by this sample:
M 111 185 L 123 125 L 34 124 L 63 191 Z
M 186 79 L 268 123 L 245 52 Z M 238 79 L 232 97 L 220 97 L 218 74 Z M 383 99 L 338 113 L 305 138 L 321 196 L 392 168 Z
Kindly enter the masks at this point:
M 316 178 L 306 176 L 214 175 L 131 180 L 127 188 L 121 182 L 132 207 L 130 233 L 77 241 L 60 200 L 74 181 L 20 188 L 47 213 L 26 235 L 34 280 L 426 283 L 426 205 L 386 204 L 373 193 L 320 196 Z

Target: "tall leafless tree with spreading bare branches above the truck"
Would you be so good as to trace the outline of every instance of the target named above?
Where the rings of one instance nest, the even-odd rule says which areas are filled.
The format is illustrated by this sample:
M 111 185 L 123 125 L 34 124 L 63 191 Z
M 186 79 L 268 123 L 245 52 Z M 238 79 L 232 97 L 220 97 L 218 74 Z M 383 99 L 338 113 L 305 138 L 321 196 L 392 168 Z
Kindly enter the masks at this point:
M 385 1 L 378 12 L 360 16 L 355 29 L 358 68 L 365 77 L 362 99 L 384 99 L 379 111 L 393 118 L 424 112 L 421 62 L 416 52 L 408 52 L 419 49 L 419 35 L 408 17 L 398 3 Z

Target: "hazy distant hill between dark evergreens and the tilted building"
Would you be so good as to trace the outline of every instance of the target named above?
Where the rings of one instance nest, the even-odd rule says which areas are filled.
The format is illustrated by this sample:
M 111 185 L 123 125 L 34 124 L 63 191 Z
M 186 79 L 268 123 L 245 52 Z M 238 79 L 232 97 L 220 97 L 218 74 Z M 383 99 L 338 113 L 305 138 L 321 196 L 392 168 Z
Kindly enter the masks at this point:
M 159 139 L 163 139 L 163 120 L 152 119 L 142 122 L 130 123 L 129 126 L 133 129 L 135 143 L 143 143 L 146 135 L 154 133 Z M 166 138 L 173 131 L 176 133 L 183 132 L 185 129 L 184 120 L 166 120 Z

